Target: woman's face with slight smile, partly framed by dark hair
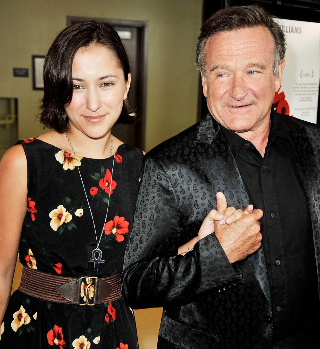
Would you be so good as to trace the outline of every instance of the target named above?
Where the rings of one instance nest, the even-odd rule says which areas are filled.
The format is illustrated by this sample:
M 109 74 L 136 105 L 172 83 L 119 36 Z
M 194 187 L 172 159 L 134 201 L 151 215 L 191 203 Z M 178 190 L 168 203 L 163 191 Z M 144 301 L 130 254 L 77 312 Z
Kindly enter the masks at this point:
M 107 135 L 127 98 L 131 74 L 124 80 L 115 55 L 102 45 L 80 47 L 72 62 L 73 94 L 65 105 L 70 131 L 89 138 Z

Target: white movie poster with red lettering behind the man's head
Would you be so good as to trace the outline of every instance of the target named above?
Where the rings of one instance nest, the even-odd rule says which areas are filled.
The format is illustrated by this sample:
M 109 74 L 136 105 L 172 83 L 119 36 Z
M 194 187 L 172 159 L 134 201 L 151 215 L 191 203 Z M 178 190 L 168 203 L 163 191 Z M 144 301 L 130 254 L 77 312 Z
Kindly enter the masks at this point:
M 287 41 L 286 67 L 275 94 L 276 111 L 317 122 L 320 80 L 320 23 L 276 19 Z

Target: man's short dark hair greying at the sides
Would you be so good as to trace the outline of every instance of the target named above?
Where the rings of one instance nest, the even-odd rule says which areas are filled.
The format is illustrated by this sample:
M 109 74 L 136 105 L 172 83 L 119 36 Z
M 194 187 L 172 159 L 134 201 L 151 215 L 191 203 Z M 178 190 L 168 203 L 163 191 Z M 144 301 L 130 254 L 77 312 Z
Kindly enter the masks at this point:
M 242 28 L 263 26 L 274 39 L 273 75 L 278 75 L 278 67 L 286 53 L 286 39 L 278 23 L 266 9 L 259 5 L 229 7 L 214 13 L 205 21 L 198 36 L 196 65 L 206 79 L 205 44 L 208 39 L 221 31 L 232 31 Z M 263 48 L 262 48 L 263 49 Z

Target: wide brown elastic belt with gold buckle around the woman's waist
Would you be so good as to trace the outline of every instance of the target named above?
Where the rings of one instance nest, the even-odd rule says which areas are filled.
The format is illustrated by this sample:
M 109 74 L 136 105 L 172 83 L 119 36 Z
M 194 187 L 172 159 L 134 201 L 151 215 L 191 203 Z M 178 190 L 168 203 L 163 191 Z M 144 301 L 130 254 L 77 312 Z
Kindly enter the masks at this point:
M 18 290 L 32 297 L 51 302 L 94 305 L 121 298 L 120 275 L 98 278 L 58 276 L 22 267 Z

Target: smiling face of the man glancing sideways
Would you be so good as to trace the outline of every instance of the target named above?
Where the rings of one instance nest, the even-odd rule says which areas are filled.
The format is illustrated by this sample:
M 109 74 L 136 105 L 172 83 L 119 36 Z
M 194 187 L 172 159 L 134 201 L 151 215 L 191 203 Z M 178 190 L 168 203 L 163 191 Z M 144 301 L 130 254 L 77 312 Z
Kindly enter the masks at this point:
M 284 60 L 273 75 L 274 40 L 261 26 L 219 32 L 205 45 L 203 93 L 211 115 L 235 132 L 258 131 L 267 125 Z M 269 125 L 269 124 L 268 124 Z

